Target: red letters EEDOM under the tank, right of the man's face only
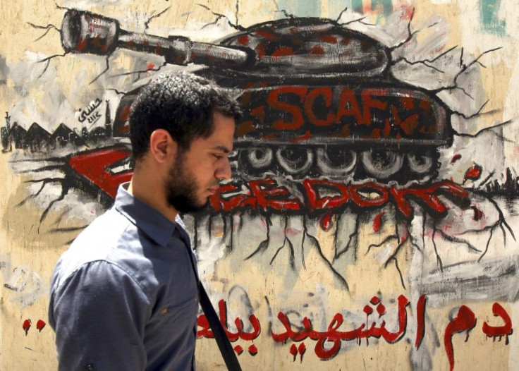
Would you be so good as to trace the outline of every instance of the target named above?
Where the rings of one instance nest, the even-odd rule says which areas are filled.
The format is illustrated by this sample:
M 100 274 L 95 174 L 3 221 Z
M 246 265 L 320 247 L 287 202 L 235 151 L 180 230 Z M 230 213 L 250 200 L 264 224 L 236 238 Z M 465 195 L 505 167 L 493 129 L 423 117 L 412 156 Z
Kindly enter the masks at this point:
M 310 211 L 333 212 L 348 202 L 362 208 L 382 207 L 388 202 L 393 202 L 396 209 L 409 218 L 413 214 L 410 199 L 424 205 L 428 212 L 441 215 L 447 212 L 447 207 L 441 202 L 438 195 L 448 194 L 460 200 L 468 197 L 466 190 L 451 181 L 442 181 L 425 187 L 396 188 L 393 185 L 389 188 L 388 185 L 373 182 L 346 185 L 326 179 L 305 179 L 303 190 L 307 202 L 296 199 L 289 189 L 279 187 L 271 178 L 250 181 L 248 190 L 238 193 L 241 188 L 238 185 L 223 185 L 210 198 L 210 205 L 215 211 L 224 212 L 246 207 L 297 211 L 303 209 L 305 205 L 309 207 Z M 336 195 L 329 195 L 330 193 L 336 193 Z M 374 229 L 379 227 L 377 223 L 378 220 L 375 220 Z

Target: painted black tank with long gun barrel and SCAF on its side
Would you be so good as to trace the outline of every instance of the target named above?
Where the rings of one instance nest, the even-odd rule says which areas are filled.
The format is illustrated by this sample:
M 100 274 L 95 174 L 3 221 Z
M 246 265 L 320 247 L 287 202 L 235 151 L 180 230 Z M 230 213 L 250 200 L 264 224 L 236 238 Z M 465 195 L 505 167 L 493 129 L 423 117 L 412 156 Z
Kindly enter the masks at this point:
M 240 176 L 427 182 L 438 148 L 452 144 L 448 107 L 389 71 L 377 40 L 323 18 L 252 25 L 214 43 L 121 30 L 85 11 L 67 11 L 61 28 L 71 53 L 109 55 L 116 48 L 164 56 L 201 68 L 243 107 L 233 162 Z M 119 103 L 114 135 L 127 135 L 137 90 Z

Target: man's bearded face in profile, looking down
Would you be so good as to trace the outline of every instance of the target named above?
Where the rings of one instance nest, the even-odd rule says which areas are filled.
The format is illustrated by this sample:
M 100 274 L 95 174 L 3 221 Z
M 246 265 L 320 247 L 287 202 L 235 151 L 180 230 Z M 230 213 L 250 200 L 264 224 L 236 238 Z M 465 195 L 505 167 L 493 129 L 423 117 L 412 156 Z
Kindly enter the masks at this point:
M 234 127 L 234 118 L 215 112 L 214 133 L 178 151 L 165 184 L 166 200 L 178 212 L 200 209 L 219 188 L 219 181 L 231 178 L 227 156 L 233 150 Z

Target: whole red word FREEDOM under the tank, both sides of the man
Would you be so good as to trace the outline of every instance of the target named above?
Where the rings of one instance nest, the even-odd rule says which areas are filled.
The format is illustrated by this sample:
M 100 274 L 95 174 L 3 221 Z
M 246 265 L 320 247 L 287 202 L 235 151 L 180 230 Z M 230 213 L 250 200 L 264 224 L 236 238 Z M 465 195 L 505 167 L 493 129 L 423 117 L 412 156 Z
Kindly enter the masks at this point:
M 83 176 L 90 184 L 97 186 L 107 195 L 115 197 L 118 185 L 129 181 L 133 171 L 121 167 L 121 171 L 112 171 L 118 164 L 129 159 L 130 150 L 126 147 L 110 147 L 94 152 L 85 152 L 69 159 L 73 170 Z M 240 209 L 257 207 L 274 211 L 299 211 L 308 207 L 310 211 L 326 210 L 333 212 L 348 202 L 353 205 L 370 208 L 382 207 L 393 202 L 396 209 L 405 217 L 411 217 L 413 208 L 408 198 L 425 205 L 427 212 L 444 214 L 447 207 L 438 195 L 446 193 L 466 199 L 468 192 L 452 181 L 441 181 L 429 186 L 414 185 L 408 188 L 397 188 L 396 185 L 382 185 L 374 182 L 346 185 L 326 179 L 305 179 L 302 182 L 305 200 L 300 200 L 286 186 L 279 186 L 272 178 L 249 181 L 244 185 L 222 185 L 214 195 L 209 197 L 209 205 L 216 212 L 231 212 Z M 298 183 L 293 182 L 294 188 Z M 331 191 L 331 192 L 330 192 Z M 330 193 L 334 195 L 330 195 Z M 475 219 L 482 217 L 475 210 Z M 330 221 L 331 219 L 327 219 Z M 324 220 L 326 221 L 326 220 Z M 374 224 L 376 229 L 377 223 Z

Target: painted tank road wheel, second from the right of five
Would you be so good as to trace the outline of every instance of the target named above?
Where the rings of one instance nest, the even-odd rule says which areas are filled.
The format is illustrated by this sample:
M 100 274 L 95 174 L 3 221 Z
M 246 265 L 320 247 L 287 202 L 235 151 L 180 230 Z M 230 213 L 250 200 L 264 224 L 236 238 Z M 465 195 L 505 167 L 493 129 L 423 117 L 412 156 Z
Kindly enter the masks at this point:
M 402 168 L 403 155 L 392 151 L 372 150 L 362 152 L 361 160 L 367 174 L 377 179 L 387 179 Z

